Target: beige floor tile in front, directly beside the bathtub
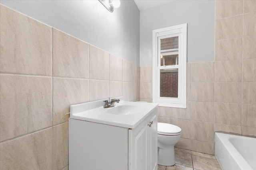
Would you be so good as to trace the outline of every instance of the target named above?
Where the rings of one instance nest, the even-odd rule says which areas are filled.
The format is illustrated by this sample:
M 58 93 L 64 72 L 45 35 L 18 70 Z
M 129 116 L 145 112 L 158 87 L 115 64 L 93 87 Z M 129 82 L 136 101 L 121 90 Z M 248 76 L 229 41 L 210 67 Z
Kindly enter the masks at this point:
M 221 170 L 217 160 L 192 155 L 193 166 L 198 170 Z

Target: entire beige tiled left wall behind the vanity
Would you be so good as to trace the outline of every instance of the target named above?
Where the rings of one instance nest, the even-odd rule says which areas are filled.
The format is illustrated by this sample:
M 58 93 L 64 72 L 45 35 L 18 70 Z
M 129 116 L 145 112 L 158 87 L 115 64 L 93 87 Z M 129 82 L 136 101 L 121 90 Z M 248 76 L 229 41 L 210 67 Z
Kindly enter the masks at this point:
M 0 5 L 0 167 L 68 170 L 70 105 L 140 98 L 140 67 Z

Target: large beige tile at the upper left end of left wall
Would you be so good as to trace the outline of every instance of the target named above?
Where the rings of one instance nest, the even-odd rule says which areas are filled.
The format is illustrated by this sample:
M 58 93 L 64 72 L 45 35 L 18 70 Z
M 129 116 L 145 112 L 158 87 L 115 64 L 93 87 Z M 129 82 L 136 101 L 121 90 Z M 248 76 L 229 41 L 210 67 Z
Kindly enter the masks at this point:
M 51 76 L 51 28 L 4 7 L 0 16 L 0 72 Z

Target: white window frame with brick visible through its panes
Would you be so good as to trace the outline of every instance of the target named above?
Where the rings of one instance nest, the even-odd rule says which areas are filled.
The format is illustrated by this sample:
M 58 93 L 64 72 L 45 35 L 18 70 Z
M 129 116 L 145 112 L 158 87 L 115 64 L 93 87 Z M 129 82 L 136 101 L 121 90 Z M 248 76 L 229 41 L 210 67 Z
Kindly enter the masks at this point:
M 153 103 L 163 107 L 187 107 L 187 23 L 153 30 Z M 160 40 L 178 36 L 178 65 L 160 66 Z M 178 69 L 178 98 L 160 97 L 160 70 Z

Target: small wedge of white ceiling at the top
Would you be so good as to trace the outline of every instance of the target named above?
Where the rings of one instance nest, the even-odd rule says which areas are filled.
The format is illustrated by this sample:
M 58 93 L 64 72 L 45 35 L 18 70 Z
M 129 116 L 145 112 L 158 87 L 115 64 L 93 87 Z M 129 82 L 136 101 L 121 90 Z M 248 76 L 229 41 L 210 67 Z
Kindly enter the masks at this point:
M 140 11 L 167 4 L 172 1 L 174 0 L 134 0 Z

